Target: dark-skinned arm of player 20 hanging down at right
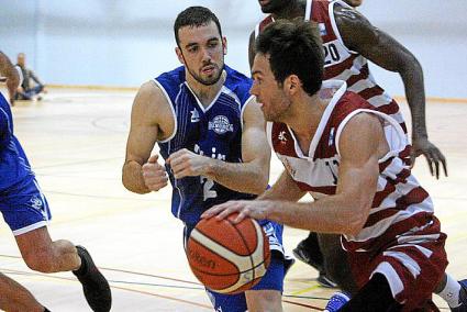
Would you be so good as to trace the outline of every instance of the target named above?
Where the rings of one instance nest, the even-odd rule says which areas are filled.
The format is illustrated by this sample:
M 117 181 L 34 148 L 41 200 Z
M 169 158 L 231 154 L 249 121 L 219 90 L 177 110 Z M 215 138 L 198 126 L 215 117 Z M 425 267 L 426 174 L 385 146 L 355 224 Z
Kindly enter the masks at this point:
M 375 27 L 353 9 L 336 5 L 334 11 L 341 36 L 347 47 L 358 52 L 378 66 L 398 73 L 405 88 L 405 97 L 412 114 L 412 161 L 425 155 L 432 175 L 435 165 L 440 176 L 440 163 L 447 176 L 446 159 L 429 141 L 425 122 L 425 89 L 423 70 L 415 56 L 389 34 Z

